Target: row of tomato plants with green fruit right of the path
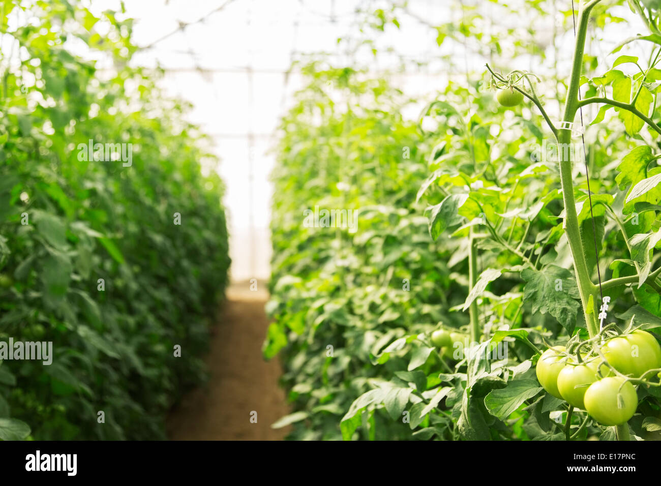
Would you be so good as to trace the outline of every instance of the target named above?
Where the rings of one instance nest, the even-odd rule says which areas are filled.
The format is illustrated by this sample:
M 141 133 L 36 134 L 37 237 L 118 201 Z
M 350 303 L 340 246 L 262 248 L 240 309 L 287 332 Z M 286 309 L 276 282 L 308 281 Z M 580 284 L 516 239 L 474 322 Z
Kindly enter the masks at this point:
M 586 75 L 598 3 L 561 122 L 524 71 L 449 82 L 414 132 L 382 81 L 309 69 L 274 171 L 264 348 L 284 354 L 293 437 L 658 438 L 659 13 L 634 2 L 647 65 Z M 356 231 L 303 225 L 315 205 L 360 208 Z

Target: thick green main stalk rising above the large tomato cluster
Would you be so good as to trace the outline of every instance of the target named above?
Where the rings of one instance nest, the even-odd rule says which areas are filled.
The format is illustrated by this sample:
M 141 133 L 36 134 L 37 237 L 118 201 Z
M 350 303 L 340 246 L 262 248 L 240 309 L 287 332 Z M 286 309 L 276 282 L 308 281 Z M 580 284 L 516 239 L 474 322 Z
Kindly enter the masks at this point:
M 564 104 L 563 126 L 564 122 L 574 123 L 576 111 L 578 110 L 578 88 L 583 62 L 583 51 L 585 47 L 586 34 L 588 32 L 588 21 L 590 19 L 590 10 L 592 4 L 586 8 L 581 8 L 578 13 L 578 29 L 576 30 L 576 46 L 574 48 L 574 60 L 572 63 L 572 75 L 569 82 L 566 101 Z M 560 156 L 560 179 L 563 186 L 564 200 L 564 222 L 563 227 L 567 235 L 569 247 L 574 259 L 574 272 L 576 272 L 576 284 L 580 292 L 583 313 L 585 315 L 586 325 L 590 337 L 599 332 L 597 323 L 598 315 L 598 293 L 597 287 L 592 283 L 590 270 L 586 263 L 583 253 L 583 244 L 580 236 L 580 227 L 578 226 L 578 215 L 576 214 L 576 200 L 574 200 L 574 182 L 572 179 L 572 160 L 573 151 L 564 150 L 564 145 L 572 142 L 572 132 L 568 128 L 562 128 L 558 132 L 559 156 Z M 592 308 L 590 308 L 590 297 L 592 296 Z

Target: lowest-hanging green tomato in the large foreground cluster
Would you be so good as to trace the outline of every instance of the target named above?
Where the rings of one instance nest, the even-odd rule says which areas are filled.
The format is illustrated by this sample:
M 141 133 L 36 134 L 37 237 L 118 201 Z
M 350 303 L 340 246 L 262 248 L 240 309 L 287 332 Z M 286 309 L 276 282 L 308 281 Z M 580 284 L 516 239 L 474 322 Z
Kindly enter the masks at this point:
M 609 376 L 594 382 L 585 392 L 585 409 L 602 425 L 621 425 L 636 413 L 638 396 L 631 382 Z

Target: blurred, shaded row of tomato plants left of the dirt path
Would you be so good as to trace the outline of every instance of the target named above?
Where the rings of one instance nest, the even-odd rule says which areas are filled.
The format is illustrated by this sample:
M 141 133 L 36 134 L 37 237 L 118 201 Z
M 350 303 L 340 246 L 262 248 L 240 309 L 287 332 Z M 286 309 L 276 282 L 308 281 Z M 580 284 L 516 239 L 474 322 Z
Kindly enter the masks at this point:
M 0 362 L 0 439 L 165 438 L 227 282 L 214 157 L 130 67 L 122 12 L 3 5 L 0 341 L 50 342 L 52 362 Z M 86 156 L 90 140 L 132 159 Z

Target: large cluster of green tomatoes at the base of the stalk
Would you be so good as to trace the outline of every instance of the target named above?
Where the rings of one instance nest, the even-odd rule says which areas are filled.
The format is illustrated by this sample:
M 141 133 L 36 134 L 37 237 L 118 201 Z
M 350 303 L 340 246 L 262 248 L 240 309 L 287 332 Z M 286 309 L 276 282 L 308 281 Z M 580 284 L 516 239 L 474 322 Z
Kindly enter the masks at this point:
M 606 339 L 582 353 L 584 345 L 553 346 L 537 362 L 537 380 L 554 397 L 587 411 L 602 425 L 622 425 L 638 407 L 631 380 L 661 368 L 661 346 L 653 335 L 633 331 Z

